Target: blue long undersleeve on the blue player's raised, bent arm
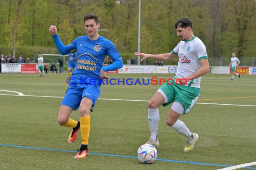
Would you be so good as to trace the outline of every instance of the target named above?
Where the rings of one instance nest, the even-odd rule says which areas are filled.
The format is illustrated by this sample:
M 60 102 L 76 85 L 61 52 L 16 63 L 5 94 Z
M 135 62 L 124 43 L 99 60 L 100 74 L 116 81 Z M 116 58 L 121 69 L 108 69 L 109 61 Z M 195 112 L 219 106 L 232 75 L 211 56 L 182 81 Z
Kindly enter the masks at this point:
M 62 55 L 66 55 L 70 53 L 71 51 L 76 50 L 76 43 L 73 41 L 71 44 L 65 46 L 62 41 L 60 40 L 58 34 L 53 35 L 53 41 L 55 43 L 55 46 L 57 47 L 58 51 Z

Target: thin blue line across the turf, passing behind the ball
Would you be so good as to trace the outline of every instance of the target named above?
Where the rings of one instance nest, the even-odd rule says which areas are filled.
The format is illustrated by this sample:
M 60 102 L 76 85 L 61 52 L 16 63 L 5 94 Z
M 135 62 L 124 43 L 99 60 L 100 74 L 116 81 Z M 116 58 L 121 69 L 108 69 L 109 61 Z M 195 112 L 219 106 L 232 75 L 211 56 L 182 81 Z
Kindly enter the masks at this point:
M 74 152 L 74 153 L 77 153 L 77 151 L 73 151 L 73 150 L 37 148 L 37 147 L 29 147 L 29 146 L 18 146 L 18 145 L 12 145 L 12 144 L 0 144 L 0 146 L 9 146 L 9 147 L 15 147 L 15 148 L 40 149 L 40 150 L 50 150 L 50 151 Z M 103 155 L 103 156 L 109 156 L 109 157 L 137 158 L 137 157 L 133 157 L 133 156 L 115 155 L 115 154 L 106 154 L 106 153 L 90 153 L 90 154 L 93 154 L 93 155 Z M 193 161 L 177 161 L 177 160 L 171 160 L 171 159 L 156 159 L 156 160 L 157 161 L 166 161 L 166 162 L 176 162 L 176 163 L 190 163 L 190 164 L 197 164 L 197 165 L 208 165 L 208 166 L 225 166 L 225 167 L 234 166 L 234 165 L 221 165 L 221 164 L 193 162 Z M 255 168 L 253 168 L 253 167 L 244 167 L 244 168 L 256 170 L 256 167 Z

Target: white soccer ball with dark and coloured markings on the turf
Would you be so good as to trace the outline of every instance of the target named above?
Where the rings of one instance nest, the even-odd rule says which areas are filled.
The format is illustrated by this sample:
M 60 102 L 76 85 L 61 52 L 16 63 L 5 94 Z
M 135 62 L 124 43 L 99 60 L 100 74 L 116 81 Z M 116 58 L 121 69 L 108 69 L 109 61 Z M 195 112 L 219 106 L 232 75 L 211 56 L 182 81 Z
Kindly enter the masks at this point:
M 137 157 L 142 163 L 152 163 L 156 160 L 157 150 L 152 144 L 143 144 L 137 151 Z

